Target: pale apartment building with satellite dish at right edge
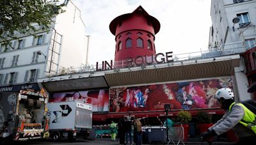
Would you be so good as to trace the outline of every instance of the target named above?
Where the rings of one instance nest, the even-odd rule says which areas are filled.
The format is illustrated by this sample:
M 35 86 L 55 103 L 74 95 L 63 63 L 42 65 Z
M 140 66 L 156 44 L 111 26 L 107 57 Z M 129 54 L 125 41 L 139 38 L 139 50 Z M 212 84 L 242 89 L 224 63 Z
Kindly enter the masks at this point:
M 214 55 L 218 55 L 218 52 L 240 53 L 241 66 L 236 67 L 236 78 L 241 82 L 248 81 L 248 87 L 256 81 L 255 6 L 255 0 L 211 2 L 212 27 L 209 32 L 209 50 L 214 51 Z M 256 94 L 254 99 L 255 96 Z

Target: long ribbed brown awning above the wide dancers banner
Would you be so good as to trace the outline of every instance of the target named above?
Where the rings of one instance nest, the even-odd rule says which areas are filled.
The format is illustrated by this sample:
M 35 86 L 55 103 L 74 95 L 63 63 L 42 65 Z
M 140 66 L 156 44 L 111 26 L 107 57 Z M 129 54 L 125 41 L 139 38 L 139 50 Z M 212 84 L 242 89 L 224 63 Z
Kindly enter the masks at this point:
M 156 64 L 143 67 L 118 69 L 106 73 L 109 86 L 160 83 L 198 78 L 212 78 L 234 75 L 234 67 L 239 66 L 239 55 L 212 59 L 188 60 L 174 63 Z

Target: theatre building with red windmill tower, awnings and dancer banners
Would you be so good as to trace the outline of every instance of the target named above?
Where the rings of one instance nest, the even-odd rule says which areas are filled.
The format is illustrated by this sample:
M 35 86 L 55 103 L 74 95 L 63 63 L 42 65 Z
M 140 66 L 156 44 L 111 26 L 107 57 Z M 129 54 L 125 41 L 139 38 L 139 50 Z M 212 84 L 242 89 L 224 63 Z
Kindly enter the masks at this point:
M 77 71 L 42 78 L 49 102 L 81 100 L 93 105 L 93 121 L 106 121 L 131 114 L 136 117 L 170 117 L 182 110 L 223 114 L 214 99 L 222 87 L 232 88 L 237 100 L 251 99 L 248 79 L 240 70 L 241 53 L 172 59 L 172 52 L 156 54 L 158 20 L 139 6 L 116 17 L 109 29 L 115 35 L 115 61 L 97 63 L 96 71 Z M 184 97 L 186 95 L 186 97 Z

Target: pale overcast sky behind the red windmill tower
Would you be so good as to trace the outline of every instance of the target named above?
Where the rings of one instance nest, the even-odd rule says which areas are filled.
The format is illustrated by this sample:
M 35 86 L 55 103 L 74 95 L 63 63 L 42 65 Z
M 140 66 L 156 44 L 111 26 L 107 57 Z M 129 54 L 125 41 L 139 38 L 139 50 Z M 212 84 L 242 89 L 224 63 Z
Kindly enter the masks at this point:
M 110 22 L 142 6 L 161 24 L 156 53 L 173 54 L 207 50 L 211 27 L 211 0 L 72 0 L 81 10 L 90 35 L 89 64 L 115 58 L 115 36 Z M 101 63 L 100 63 L 101 64 Z

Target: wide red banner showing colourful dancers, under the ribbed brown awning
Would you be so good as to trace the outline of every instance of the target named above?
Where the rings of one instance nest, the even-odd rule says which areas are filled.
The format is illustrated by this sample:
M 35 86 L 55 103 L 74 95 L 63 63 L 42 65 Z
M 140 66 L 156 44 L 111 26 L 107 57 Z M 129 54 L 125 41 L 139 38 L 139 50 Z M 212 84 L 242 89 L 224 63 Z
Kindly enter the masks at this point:
M 233 89 L 231 77 L 111 88 L 109 112 L 164 111 L 164 104 L 172 110 L 220 107 L 214 95 L 223 87 Z

